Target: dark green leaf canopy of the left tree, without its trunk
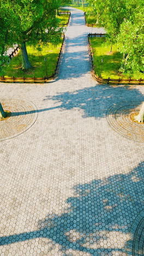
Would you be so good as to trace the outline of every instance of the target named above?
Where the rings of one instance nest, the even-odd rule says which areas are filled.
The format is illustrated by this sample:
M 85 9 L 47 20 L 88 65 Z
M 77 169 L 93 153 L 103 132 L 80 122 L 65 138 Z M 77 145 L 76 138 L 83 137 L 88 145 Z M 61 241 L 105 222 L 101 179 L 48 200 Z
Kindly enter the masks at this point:
M 41 43 L 58 44 L 62 28 L 58 26 L 58 0 L 1 0 L 1 56 L 10 44 L 29 42 L 40 48 Z M 4 46 L 3 46 L 4 45 Z M 2 49 L 4 48 L 4 50 Z M 26 51 L 25 51 L 26 52 Z M 26 54 L 22 55 L 27 57 Z M 27 58 L 28 59 L 28 58 Z

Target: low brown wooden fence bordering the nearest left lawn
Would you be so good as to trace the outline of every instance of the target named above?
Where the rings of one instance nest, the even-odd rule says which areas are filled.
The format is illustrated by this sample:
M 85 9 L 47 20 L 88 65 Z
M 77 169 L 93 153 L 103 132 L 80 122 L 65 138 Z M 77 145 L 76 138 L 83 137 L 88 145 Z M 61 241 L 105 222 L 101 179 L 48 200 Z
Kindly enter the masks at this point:
M 59 51 L 58 54 L 58 59 L 57 59 L 57 63 L 56 63 L 56 68 L 55 71 L 52 75 L 50 75 L 50 77 L 0 77 L 0 82 L 3 83 L 46 83 L 49 82 L 50 80 L 52 80 L 53 78 L 55 78 L 56 72 L 57 72 L 57 67 L 58 67 L 58 62 L 59 62 L 59 58 L 61 56 L 61 52 L 62 52 L 62 48 L 63 48 L 63 43 L 64 43 L 64 34 L 63 34 L 63 42 L 61 45 L 61 50 Z

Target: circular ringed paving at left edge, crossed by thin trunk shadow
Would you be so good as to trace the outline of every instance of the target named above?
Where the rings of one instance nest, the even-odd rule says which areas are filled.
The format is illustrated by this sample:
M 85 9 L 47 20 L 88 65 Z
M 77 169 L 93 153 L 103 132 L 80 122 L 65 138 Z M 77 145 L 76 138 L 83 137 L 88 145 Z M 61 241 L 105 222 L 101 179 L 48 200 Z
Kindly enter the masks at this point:
M 13 138 L 28 130 L 38 117 L 37 107 L 21 98 L 1 98 L 4 110 L 11 112 L 9 118 L 0 121 L 0 141 Z

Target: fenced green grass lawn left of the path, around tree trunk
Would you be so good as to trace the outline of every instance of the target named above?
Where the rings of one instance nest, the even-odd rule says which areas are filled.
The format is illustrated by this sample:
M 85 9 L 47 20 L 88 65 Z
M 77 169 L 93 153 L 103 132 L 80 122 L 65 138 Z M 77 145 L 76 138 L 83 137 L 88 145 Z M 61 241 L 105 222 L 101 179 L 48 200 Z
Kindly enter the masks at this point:
M 10 63 L 3 68 L 0 75 L 4 75 L 5 77 L 23 77 L 23 75 L 25 77 L 44 77 L 44 75 L 46 76 L 45 58 L 47 75 L 50 76 L 55 71 L 61 45 L 62 43 L 59 43 L 57 46 L 47 44 L 41 51 L 38 51 L 32 46 L 27 46 L 29 61 L 34 68 L 27 72 L 23 72 L 20 69 L 22 62 L 21 52 L 19 51 L 19 53 L 11 59 Z

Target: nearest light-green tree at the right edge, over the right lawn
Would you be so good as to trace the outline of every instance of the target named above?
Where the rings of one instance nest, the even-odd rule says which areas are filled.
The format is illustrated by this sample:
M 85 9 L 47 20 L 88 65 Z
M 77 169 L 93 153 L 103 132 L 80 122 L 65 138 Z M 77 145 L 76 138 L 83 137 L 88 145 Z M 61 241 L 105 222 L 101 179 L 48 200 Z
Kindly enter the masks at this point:
M 124 20 L 121 24 L 117 42 L 119 50 L 123 53 L 121 72 L 125 69 L 128 72 L 140 71 L 144 64 L 144 18 L 143 5 L 137 2 L 137 7 L 133 10 L 130 20 Z

